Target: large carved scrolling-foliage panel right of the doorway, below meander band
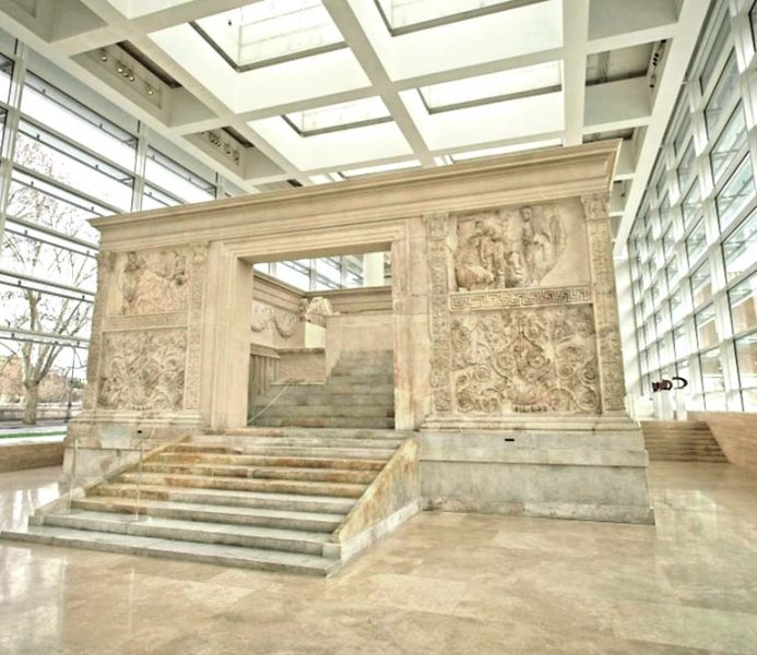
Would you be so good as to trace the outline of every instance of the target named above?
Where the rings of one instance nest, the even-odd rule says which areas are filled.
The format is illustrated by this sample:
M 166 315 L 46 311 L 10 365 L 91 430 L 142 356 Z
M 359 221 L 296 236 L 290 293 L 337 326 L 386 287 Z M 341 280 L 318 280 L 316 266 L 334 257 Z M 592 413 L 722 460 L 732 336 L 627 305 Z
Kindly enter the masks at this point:
M 460 413 L 600 412 L 590 306 L 456 314 L 451 345 Z

